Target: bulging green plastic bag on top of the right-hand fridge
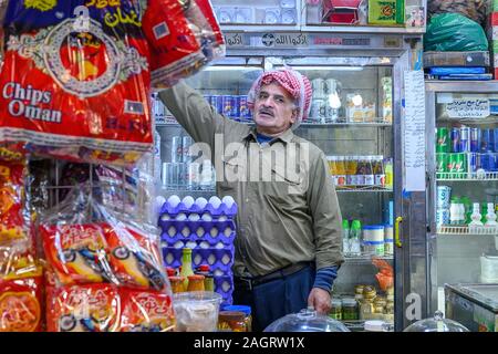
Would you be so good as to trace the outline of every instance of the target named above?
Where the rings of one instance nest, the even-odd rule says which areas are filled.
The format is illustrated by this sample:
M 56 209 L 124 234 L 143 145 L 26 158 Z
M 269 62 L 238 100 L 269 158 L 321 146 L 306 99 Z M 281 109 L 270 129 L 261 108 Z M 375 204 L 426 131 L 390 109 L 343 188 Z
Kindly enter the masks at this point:
M 479 23 L 459 13 L 434 15 L 424 35 L 424 51 L 487 51 L 488 40 Z

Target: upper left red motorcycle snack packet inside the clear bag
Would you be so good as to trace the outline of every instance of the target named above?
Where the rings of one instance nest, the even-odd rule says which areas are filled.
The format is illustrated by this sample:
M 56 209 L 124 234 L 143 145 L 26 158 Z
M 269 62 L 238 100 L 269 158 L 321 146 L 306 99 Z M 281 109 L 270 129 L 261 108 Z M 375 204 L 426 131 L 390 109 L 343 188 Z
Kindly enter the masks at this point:
M 104 226 L 42 225 L 40 231 L 46 260 L 62 284 L 113 281 Z

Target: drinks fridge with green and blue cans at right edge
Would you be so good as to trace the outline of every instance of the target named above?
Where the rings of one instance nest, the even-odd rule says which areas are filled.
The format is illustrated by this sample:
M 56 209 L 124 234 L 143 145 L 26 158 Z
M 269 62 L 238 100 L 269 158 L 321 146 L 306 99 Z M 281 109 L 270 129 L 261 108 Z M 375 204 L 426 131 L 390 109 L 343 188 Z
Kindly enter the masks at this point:
M 426 92 L 430 309 L 445 311 L 445 284 L 498 282 L 498 84 Z

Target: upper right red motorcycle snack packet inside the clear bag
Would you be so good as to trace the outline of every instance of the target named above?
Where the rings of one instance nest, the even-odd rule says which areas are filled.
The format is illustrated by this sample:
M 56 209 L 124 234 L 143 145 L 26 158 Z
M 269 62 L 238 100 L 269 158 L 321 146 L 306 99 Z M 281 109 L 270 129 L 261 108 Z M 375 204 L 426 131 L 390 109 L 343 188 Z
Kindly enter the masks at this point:
M 111 267 L 121 285 L 166 290 L 167 280 L 157 238 L 124 225 L 108 227 L 106 238 Z

